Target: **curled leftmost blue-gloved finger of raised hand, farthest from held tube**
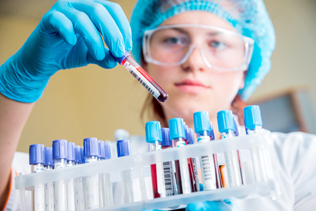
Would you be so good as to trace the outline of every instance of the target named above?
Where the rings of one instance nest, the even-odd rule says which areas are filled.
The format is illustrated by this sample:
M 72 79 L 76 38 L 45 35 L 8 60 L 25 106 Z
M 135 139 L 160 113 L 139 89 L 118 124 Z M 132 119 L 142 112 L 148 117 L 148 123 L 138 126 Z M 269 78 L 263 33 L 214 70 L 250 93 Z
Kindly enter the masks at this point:
M 67 44 L 76 45 L 77 38 L 74 32 L 74 25 L 72 25 L 71 21 L 67 18 L 67 16 L 65 16 L 65 14 L 53 10 L 43 16 L 41 23 L 41 27 L 44 27 L 45 29 L 42 30 L 42 32 L 58 32 Z

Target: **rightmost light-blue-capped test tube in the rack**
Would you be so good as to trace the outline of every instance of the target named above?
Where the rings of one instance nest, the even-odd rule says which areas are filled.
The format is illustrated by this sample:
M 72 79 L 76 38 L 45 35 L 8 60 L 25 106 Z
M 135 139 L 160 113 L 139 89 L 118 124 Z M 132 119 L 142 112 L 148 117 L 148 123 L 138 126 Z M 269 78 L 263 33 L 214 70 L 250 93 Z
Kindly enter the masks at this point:
M 245 107 L 244 114 L 247 135 L 253 133 L 262 133 L 262 118 L 260 108 L 258 106 Z M 264 158 L 264 148 L 261 146 L 253 146 L 250 150 L 256 182 L 268 181 L 269 170 L 266 159 Z

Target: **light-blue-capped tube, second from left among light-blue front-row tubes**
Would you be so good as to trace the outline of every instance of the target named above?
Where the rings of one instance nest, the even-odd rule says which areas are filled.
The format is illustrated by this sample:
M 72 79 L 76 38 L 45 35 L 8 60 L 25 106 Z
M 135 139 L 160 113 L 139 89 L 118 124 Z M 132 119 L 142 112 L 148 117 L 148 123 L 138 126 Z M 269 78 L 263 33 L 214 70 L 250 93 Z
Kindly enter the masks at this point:
M 184 122 L 181 118 L 173 118 L 169 120 L 169 132 L 172 147 L 185 146 L 185 131 L 183 125 Z M 188 159 L 184 158 L 174 161 L 174 167 L 178 194 L 189 194 L 192 190 Z

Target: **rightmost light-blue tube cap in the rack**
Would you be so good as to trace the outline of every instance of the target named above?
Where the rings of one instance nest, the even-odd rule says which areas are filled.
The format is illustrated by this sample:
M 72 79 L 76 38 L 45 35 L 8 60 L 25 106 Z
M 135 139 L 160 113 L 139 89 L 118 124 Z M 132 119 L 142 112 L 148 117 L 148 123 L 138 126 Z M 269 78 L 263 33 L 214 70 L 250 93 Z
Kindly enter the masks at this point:
M 255 129 L 256 125 L 262 126 L 260 107 L 251 105 L 244 108 L 246 129 Z

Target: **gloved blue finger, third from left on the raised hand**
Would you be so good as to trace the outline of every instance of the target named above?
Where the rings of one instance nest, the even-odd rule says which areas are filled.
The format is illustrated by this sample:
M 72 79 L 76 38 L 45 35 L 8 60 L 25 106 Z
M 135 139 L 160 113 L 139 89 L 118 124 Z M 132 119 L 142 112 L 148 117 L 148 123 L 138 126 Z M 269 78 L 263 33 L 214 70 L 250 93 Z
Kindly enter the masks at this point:
M 115 23 L 113 16 L 111 16 L 109 11 L 106 10 L 104 5 L 95 3 L 94 1 L 76 1 L 71 2 L 71 5 L 76 10 L 80 10 L 89 16 L 89 19 L 91 19 L 95 27 L 98 28 L 99 32 L 102 34 L 104 42 L 109 47 L 114 56 L 121 57 L 124 55 L 124 38 L 120 28 L 117 26 L 117 23 Z M 124 13 L 113 15 L 125 16 Z

